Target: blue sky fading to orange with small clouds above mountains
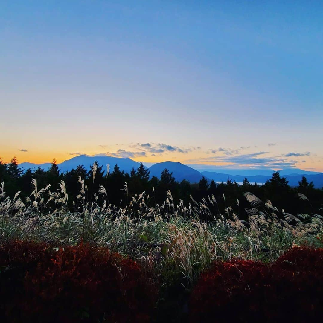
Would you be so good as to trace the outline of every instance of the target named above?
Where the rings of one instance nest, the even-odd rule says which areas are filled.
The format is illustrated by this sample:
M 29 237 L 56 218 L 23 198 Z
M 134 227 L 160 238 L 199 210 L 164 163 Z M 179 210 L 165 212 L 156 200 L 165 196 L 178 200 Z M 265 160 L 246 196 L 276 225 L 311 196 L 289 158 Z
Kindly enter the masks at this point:
M 323 4 L 1 1 L 0 156 L 323 172 Z

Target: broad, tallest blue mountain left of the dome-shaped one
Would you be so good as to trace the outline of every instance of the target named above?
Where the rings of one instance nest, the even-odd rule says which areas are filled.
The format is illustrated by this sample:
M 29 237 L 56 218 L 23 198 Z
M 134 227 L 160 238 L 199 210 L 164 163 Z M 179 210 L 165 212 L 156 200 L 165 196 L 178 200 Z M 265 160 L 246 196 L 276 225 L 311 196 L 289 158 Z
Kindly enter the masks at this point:
M 95 161 L 98 161 L 100 166 L 103 165 L 102 170 L 104 171 L 107 170 L 106 165 L 110 164 L 111 172 L 116 164 L 118 164 L 120 171 L 128 173 L 130 173 L 132 167 L 137 169 L 140 165 L 138 161 L 133 161 L 130 158 L 80 155 L 63 161 L 60 164 L 57 164 L 57 166 L 61 172 L 71 171 L 72 168 L 76 168 L 79 164 L 83 165 L 87 170 L 89 170 L 90 166 L 92 166 Z

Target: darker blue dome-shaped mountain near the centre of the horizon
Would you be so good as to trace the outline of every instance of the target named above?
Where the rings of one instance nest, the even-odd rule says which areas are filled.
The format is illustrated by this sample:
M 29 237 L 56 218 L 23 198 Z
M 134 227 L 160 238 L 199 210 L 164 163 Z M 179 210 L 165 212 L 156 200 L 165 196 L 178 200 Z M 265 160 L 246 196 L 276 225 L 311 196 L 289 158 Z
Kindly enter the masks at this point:
M 163 161 L 152 165 L 149 168 L 150 176 L 156 176 L 160 178 L 161 172 L 165 168 L 173 173 L 175 180 L 178 182 L 181 182 L 183 179 L 185 179 L 191 183 L 197 183 L 203 177 L 200 172 L 191 167 L 183 165 L 178 161 Z

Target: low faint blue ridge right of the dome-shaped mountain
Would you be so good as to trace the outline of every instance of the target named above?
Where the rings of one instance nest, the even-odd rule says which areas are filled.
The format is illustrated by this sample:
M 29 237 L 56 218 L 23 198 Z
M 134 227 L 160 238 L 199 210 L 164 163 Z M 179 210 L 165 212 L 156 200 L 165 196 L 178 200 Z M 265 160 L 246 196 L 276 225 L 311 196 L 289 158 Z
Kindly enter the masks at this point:
M 280 172 L 279 172 L 280 173 Z M 215 172 L 202 172 L 203 176 L 214 180 L 215 182 L 226 182 L 228 178 L 232 181 L 242 182 L 244 178 L 251 183 L 265 183 L 267 180 L 271 178 L 271 176 L 264 176 L 264 175 L 256 175 L 256 176 L 244 176 L 244 175 L 230 175 L 230 174 L 222 174 L 222 173 L 215 173 Z M 323 187 L 323 173 L 317 174 L 291 174 L 291 175 L 283 175 L 280 173 L 281 176 L 286 177 L 288 184 L 290 186 L 297 186 L 298 182 L 301 181 L 302 176 L 305 176 L 308 182 L 312 182 L 316 188 Z

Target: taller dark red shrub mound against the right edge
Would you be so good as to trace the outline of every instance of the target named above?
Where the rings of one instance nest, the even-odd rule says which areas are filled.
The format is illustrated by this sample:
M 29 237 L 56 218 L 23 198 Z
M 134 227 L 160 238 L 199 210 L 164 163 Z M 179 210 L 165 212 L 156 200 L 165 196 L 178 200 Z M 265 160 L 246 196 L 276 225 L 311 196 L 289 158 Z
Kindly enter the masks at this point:
M 323 249 L 292 248 L 271 267 L 272 320 L 323 319 Z

